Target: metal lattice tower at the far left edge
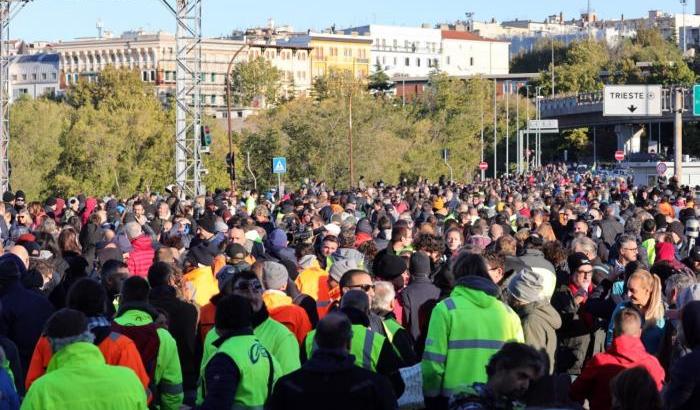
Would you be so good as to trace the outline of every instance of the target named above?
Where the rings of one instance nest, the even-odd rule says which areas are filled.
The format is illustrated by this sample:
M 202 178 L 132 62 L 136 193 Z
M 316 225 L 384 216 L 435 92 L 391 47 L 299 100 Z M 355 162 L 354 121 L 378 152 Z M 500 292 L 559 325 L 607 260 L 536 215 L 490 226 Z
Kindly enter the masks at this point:
M 0 0 L 0 191 L 10 189 L 10 21 L 31 0 Z

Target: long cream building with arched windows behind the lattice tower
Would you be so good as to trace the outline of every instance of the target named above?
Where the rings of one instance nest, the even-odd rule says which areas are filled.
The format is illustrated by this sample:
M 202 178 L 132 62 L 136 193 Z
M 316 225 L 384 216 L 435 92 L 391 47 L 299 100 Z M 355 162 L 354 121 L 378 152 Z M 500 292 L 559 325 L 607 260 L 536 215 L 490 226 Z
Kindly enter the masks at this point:
M 226 107 L 226 70 L 239 50 L 236 62 L 263 57 L 281 71 L 282 97 L 307 94 L 311 89 L 310 48 L 252 44 L 242 40 L 202 40 L 201 101 L 208 111 Z M 175 92 L 175 36 L 165 32 L 126 32 L 119 37 L 92 37 L 46 43 L 33 52 L 54 52 L 60 56 L 61 84 L 69 86 L 80 78 L 95 79 L 108 65 L 138 70 L 144 82 L 152 83 L 161 98 Z

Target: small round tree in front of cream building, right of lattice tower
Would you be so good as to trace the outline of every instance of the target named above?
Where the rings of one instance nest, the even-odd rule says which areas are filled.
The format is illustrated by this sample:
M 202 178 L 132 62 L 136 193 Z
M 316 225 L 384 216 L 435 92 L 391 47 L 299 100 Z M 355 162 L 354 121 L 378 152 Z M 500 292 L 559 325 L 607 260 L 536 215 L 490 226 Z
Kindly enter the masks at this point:
M 233 101 L 250 106 L 254 99 L 264 98 L 261 108 L 277 103 L 282 73 L 263 57 L 236 63 L 231 74 Z

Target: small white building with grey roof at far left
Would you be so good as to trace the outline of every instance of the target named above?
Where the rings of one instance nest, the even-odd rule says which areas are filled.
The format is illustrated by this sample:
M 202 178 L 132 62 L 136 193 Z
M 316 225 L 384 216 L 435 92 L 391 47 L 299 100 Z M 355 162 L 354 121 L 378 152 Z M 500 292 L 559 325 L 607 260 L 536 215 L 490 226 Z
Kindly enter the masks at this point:
M 60 91 L 58 54 L 16 55 L 10 58 L 10 101 L 22 95 L 53 96 Z

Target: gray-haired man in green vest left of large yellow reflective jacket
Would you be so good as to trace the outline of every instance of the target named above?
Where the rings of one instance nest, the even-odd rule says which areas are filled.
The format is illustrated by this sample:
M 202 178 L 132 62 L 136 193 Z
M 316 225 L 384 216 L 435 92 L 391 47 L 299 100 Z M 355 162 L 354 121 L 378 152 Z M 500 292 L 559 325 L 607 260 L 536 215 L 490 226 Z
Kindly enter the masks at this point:
M 396 304 L 396 291 L 391 282 L 374 282 L 374 297 L 371 301 L 372 313 L 382 319 L 382 325 L 387 339 L 391 342 L 406 366 L 418 363 L 418 356 L 413 350 L 413 343 L 408 331 L 396 321 L 394 305 Z

